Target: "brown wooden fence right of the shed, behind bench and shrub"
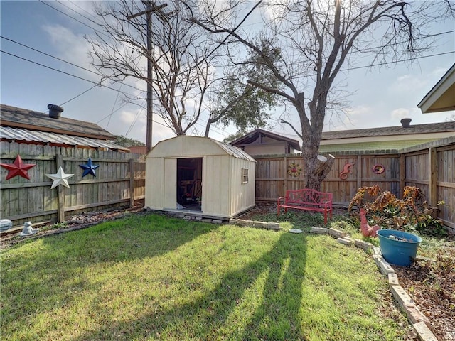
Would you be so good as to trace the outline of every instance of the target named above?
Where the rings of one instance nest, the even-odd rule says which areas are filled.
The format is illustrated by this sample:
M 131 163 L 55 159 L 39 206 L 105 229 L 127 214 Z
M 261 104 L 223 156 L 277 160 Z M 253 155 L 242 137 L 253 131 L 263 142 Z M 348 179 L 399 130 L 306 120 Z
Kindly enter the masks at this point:
M 402 196 L 405 186 L 417 186 L 430 205 L 445 202 L 439 205 L 439 219 L 455 228 L 455 137 L 400 153 L 369 151 L 333 155 L 336 160 L 321 190 L 333 193 L 336 205 L 348 205 L 362 186 L 379 185 L 381 190 L 390 190 L 397 197 Z M 301 156 L 255 156 L 255 159 L 257 201 L 276 201 L 286 190 L 304 188 L 303 176 L 291 171 L 293 164 L 297 170 L 303 168 Z M 348 173 L 343 179 L 341 173 L 345 171 Z

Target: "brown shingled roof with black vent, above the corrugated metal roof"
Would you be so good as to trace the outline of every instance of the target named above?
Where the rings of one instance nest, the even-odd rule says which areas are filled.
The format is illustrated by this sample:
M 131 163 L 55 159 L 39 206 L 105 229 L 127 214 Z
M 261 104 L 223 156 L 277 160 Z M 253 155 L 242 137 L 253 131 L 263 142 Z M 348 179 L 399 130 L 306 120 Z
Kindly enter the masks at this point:
M 0 104 L 1 126 L 42 131 L 90 139 L 114 140 L 115 136 L 95 123 L 60 117 L 54 119 L 43 112 Z

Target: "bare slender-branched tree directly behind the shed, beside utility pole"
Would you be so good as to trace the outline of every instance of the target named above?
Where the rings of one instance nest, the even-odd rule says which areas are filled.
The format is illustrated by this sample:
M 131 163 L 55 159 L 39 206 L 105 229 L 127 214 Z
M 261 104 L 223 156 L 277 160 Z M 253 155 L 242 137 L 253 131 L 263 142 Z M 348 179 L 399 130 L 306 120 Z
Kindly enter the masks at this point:
M 159 105 L 154 113 L 177 135 L 184 135 L 200 119 L 205 92 L 213 79 L 218 55 L 207 34 L 186 20 L 187 6 L 180 1 L 153 11 L 151 45 L 147 48 L 146 1 L 112 1 L 98 4 L 103 34 L 87 37 L 92 65 L 113 81 L 127 77 L 152 85 Z M 147 62 L 153 77 L 147 77 Z M 130 99 L 133 100 L 133 99 Z

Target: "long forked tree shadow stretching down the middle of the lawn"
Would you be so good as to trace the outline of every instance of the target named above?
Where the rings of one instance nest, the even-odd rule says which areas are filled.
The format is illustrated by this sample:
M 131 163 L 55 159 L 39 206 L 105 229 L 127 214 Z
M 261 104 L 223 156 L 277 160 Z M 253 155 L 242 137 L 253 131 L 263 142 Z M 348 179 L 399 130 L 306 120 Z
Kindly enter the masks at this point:
M 305 239 L 305 234 L 282 233 L 259 259 L 224 274 L 203 295 L 185 303 L 144 306 L 137 319 L 111 321 L 72 340 L 119 340 L 116 335 L 124 335 L 120 340 L 302 339 Z

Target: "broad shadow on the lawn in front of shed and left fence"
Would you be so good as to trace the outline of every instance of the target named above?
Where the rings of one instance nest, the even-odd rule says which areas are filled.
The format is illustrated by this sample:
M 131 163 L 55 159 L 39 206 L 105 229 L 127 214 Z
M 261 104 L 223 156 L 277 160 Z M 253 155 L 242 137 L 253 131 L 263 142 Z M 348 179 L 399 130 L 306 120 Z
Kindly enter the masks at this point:
M 101 274 L 115 264 L 163 256 L 216 228 L 163 215 L 132 215 L 2 250 L 0 329 L 31 323 L 37 314 L 70 305 L 78 293 L 97 291 L 102 283 L 91 281 L 87 269 Z

